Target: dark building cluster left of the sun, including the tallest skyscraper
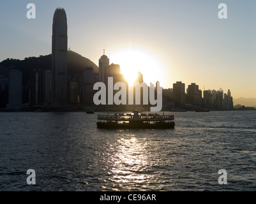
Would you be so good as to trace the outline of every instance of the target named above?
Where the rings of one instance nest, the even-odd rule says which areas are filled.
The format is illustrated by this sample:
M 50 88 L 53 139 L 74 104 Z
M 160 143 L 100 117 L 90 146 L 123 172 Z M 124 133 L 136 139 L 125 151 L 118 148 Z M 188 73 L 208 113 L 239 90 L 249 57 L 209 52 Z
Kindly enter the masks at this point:
M 98 72 L 92 66 L 81 68 L 79 73 L 68 75 L 67 18 L 63 8 L 57 8 L 52 24 L 51 68 L 34 68 L 28 75 L 23 70 L 10 66 L 0 67 L 0 108 L 6 110 L 33 110 L 38 106 L 47 110 L 56 108 L 81 108 L 94 106 L 96 82 L 107 83 L 108 77 L 116 82 L 128 82 L 121 74 L 119 64 L 110 64 L 105 50 L 99 59 Z M 43 59 L 44 56 L 40 55 Z M 25 60 L 38 60 L 29 57 Z M 16 62 L 19 60 L 8 59 Z M 26 82 L 24 82 L 24 80 Z

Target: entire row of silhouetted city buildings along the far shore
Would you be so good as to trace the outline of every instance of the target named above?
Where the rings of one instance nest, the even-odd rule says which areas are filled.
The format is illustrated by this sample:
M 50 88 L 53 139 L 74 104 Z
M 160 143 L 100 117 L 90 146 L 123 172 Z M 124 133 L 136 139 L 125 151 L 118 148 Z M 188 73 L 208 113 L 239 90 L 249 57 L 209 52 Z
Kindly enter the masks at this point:
M 41 106 L 51 110 L 94 106 L 93 96 L 96 91 L 93 90 L 93 85 L 96 82 L 107 84 L 108 77 L 113 77 L 114 84 L 124 82 L 128 87 L 128 82 L 121 74 L 119 64 L 110 64 L 105 50 L 99 59 L 98 72 L 89 66 L 81 68 L 80 73 L 68 75 L 67 47 L 66 13 L 63 8 L 57 8 L 52 25 L 52 67 L 48 69 L 35 68 L 30 71 L 30 76 L 24 76 L 19 69 L 0 66 L 0 108 L 31 110 L 31 107 Z M 34 60 L 36 57 L 26 60 L 28 59 Z M 15 61 L 15 59 L 11 59 L 11 61 Z M 26 80 L 26 83 L 22 83 L 22 80 Z M 143 83 L 141 73 L 138 74 L 137 82 Z M 144 89 L 140 91 L 141 100 L 143 91 Z M 188 85 L 185 92 L 185 84 L 176 82 L 172 89 L 163 89 L 163 109 L 170 110 L 173 107 L 186 109 L 197 107 L 233 108 L 230 91 L 224 94 L 222 89 L 219 91 L 207 90 L 203 94 L 202 97 L 202 91 L 195 83 Z

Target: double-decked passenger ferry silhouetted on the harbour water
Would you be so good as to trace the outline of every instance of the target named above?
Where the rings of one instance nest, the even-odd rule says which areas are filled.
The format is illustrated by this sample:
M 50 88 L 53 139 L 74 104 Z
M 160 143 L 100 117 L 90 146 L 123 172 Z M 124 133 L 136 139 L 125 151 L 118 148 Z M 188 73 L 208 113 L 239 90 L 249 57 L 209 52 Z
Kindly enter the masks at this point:
M 97 128 L 102 129 L 171 129 L 174 128 L 174 115 L 157 113 L 115 113 L 98 115 Z

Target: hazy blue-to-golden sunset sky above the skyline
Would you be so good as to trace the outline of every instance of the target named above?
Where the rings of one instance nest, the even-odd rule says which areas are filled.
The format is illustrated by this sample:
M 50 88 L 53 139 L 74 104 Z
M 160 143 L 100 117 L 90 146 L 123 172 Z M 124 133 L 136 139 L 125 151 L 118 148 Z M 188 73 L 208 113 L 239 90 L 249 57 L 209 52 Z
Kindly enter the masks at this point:
M 36 18 L 27 18 L 27 4 Z M 227 18 L 218 18 L 220 3 Z M 49 55 L 52 18 L 58 7 L 68 19 L 68 47 L 96 65 L 105 54 L 124 77 L 186 87 L 230 89 L 234 99 L 256 98 L 255 0 L 1 0 L 0 61 Z

